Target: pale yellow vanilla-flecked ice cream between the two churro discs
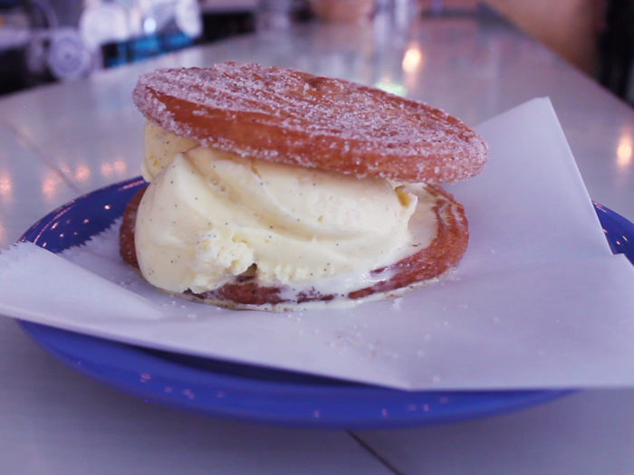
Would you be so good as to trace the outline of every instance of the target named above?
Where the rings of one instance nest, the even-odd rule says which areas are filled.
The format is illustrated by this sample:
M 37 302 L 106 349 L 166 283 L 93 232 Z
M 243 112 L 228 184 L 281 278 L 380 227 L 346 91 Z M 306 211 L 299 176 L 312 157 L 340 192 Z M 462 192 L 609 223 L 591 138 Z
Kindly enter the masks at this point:
M 405 186 L 239 157 L 151 123 L 145 138 L 137 256 L 161 289 L 202 293 L 255 271 L 262 286 L 358 290 L 436 235 L 432 202 L 417 210 Z M 415 210 L 430 218 L 416 236 Z

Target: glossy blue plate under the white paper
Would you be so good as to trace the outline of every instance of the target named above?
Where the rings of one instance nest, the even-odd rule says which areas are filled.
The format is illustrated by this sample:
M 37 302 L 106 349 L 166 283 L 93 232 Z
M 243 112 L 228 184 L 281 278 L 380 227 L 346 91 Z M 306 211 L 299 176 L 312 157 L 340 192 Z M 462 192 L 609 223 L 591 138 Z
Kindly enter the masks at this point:
M 143 185 L 134 178 L 45 216 L 21 241 L 62 252 L 101 233 Z M 595 204 L 613 252 L 634 259 L 634 224 Z M 569 391 L 406 392 L 185 356 L 21 321 L 44 350 L 83 375 L 179 408 L 245 421 L 323 428 L 447 423 L 543 403 Z

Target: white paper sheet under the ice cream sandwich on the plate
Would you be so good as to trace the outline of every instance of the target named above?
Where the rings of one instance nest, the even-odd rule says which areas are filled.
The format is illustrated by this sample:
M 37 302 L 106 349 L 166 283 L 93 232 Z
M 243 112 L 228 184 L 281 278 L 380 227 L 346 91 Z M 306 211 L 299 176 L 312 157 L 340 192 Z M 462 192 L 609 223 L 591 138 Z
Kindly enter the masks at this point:
M 477 130 L 490 163 L 450 187 L 469 249 L 435 286 L 348 310 L 216 309 L 152 289 L 119 260 L 110 230 L 66 253 L 77 266 L 30 244 L 5 252 L 0 312 L 402 389 L 633 385 L 634 268 L 610 254 L 550 101 Z

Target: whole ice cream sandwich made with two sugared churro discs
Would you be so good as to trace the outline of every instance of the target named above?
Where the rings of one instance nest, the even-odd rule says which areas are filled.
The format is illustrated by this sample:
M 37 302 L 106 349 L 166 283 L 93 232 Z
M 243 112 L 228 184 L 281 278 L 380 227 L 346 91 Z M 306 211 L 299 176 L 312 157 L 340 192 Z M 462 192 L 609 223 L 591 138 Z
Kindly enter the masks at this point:
M 438 184 L 487 147 L 426 104 L 350 81 L 226 62 L 140 77 L 147 188 L 120 231 L 160 290 L 229 309 L 350 306 L 433 283 L 466 251 Z

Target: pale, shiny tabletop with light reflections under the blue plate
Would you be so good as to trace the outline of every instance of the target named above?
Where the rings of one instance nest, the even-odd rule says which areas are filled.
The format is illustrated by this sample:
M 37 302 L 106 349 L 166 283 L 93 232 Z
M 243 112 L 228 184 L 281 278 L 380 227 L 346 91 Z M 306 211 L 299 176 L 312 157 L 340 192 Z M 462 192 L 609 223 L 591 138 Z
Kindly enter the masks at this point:
M 418 65 L 404 68 L 407 51 Z M 395 33 L 379 18 L 246 36 L 0 99 L 0 245 L 73 197 L 139 175 L 142 119 L 130 91 L 140 72 L 225 60 L 405 88 L 470 125 L 550 96 L 591 197 L 634 220 L 627 105 L 495 19 L 424 19 Z M 0 474 L 634 473 L 629 389 L 418 429 L 272 428 L 120 394 L 46 356 L 8 318 L 0 381 Z

